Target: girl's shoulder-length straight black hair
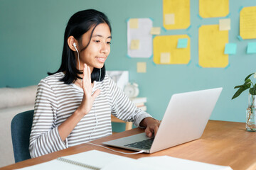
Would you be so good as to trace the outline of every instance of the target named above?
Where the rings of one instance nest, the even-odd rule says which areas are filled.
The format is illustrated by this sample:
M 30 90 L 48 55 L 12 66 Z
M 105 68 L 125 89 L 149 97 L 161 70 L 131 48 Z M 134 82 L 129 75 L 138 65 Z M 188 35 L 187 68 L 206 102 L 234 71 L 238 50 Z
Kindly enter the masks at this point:
M 96 26 L 100 23 L 107 23 L 111 33 L 110 21 L 108 20 L 107 16 L 105 16 L 105 14 L 100 11 L 96 11 L 95 9 L 87 9 L 84 11 L 79 11 L 71 16 L 70 20 L 68 21 L 68 25 L 65 28 L 63 54 L 60 68 L 57 72 L 48 72 L 48 75 L 52 75 L 58 72 L 65 72 L 65 77 L 60 79 L 60 81 L 64 81 L 65 84 L 71 84 L 73 81 L 81 79 L 78 74 L 82 74 L 82 72 L 80 72 L 76 67 L 77 62 L 75 59 L 75 53 L 68 46 L 68 38 L 73 35 L 73 37 L 79 41 L 81 40 L 82 35 L 90 30 L 92 26 L 94 26 L 92 29 L 93 33 Z M 92 33 L 90 35 L 90 40 L 92 38 Z M 83 48 L 83 50 L 90 44 L 90 40 L 88 44 Z M 92 82 L 99 81 L 99 78 L 100 81 L 102 81 L 105 78 L 105 73 L 105 64 L 101 70 L 94 68 L 91 74 Z

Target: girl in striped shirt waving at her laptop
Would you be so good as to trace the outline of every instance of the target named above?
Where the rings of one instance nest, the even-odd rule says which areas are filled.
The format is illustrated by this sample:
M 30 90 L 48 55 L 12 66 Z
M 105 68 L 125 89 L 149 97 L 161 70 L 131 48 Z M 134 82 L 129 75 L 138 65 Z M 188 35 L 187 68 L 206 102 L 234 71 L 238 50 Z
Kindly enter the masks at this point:
M 100 11 L 75 13 L 65 29 L 60 69 L 38 84 L 31 157 L 112 135 L 111 114 L 156 134 L 159 121 L 136 108 L 105 74 L 111 26 Z

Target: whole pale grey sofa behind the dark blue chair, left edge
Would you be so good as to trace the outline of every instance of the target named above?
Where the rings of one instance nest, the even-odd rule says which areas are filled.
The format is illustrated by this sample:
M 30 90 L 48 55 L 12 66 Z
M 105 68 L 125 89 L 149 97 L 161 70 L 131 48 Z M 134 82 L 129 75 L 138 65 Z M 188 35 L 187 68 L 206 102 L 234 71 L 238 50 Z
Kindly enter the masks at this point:
M 0 88 L 0 167 L 14 164 L 11 120 L 14 115 L 33 110 L 37 86 Z

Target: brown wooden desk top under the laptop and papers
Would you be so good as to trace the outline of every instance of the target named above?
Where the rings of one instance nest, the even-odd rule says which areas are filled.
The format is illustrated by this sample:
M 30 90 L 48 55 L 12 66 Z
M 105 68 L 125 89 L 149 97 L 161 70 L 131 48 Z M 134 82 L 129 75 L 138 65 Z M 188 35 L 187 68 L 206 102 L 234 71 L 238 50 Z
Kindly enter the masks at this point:
M 114 140 L 119 137 L 134 135 L 139 132 L 144 132 L 144 130 L 135 128 L 125 132 L 119 132 L 109 137 L 103 137 L 100 140 L 95 140 L 93 143 L 102 144 L 102 142 L 107 140 Z M 111 148 L 113 149 L 114 147 Z M 23 162 L 5 166 L 1 169 L 18 169 L 25 166 L 47 162 L 57 157 L 77 154 L 92 149 L 109 152 L 111 154 L 118 154 L 102 147 L 82 144 L 59 152 L 47 154 L 43 157 L 28 159 Z M 125 149 L 114 149 L 122 152 L 131 152 Z M 247 132 L 245 130 L 245 123 L 210 120 L 206 126 L 206 130 L 203 132 L 203 136 L 199 140 L 187 142 L 183 145 L 171 147 L 154 154 L 119 155 L 135 159 L 139 157 L 169 155 L 171 157 L 190 159 L 193 161 L 231 166 L 234 170 L 252 170 L 256 169 L 256 132 Z

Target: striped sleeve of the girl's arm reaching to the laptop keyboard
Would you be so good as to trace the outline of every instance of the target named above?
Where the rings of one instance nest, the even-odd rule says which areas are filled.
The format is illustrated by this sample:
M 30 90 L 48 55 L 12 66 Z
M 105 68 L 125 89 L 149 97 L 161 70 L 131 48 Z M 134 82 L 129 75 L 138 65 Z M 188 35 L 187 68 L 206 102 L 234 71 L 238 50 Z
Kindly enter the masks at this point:
M 149 113 L 137 108 L 112 79 L 110 79 L 110 96 L 112 104 L 111 113 L 117 118 L 133 122 L 134 125 L 139 127 L 139 123 L 144 118 L 151 117 Z

